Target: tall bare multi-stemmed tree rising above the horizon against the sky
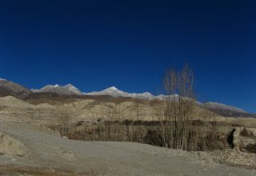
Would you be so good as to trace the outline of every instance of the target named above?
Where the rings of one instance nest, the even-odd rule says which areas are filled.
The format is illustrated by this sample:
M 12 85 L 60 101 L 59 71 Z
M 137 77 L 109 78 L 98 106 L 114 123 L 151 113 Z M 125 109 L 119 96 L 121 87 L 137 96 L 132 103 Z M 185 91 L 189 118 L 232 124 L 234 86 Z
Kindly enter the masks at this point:
M 191 150 L 194 144 L 190 144 L 193 141 L 189 139 L 195 135 L 191 133 L 195 106 L 194 74 L 188 65 L 181 72 L 167 70 L 163 86 L 166 96 L 154 106 L 163 146 Z

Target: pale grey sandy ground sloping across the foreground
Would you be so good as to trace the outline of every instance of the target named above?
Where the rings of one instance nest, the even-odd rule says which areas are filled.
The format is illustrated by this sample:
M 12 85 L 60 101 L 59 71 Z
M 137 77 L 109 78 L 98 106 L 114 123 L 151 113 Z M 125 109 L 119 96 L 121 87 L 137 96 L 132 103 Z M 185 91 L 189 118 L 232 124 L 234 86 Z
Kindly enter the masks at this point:
M 134 142 L 72 141 L 41 126 L 0 124 L 0 132 L 18 140 L 22 151 L 2 149 L 0 175 L 256 175 L 253 169 L 216 163 L 204 152 Z M 9 144 L 15 149 L 16 143 Z M 0 147 L 6 147 L 1 145 L 0 140 Z

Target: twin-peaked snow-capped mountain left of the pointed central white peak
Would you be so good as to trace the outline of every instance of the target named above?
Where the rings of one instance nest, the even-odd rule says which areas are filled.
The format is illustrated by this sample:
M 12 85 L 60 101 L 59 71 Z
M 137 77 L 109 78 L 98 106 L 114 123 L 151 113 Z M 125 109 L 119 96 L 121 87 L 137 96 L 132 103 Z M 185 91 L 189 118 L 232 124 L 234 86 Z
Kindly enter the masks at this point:
M 71 84 L 67 84 L 66 86 L 59 86 L 58 84 L 55 85 L 47 85 L 42 87 L 40 90 L 31 89 L 34 93 L 42 93 L 42 92 L 53 92 L 57 94 L 78 94 L 81 95 L 82 92 L 78 90 L 75 86 Z

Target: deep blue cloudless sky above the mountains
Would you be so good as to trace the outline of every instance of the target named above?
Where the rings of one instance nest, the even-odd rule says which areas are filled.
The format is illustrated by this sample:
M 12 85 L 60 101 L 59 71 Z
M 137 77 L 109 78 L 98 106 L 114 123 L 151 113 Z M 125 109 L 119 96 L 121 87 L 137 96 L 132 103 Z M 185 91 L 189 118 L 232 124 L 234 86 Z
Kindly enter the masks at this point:
M 201 101 L 256 112 L 256 1 L 1 1 L 0 78 L 156 94 L 170 66 Z

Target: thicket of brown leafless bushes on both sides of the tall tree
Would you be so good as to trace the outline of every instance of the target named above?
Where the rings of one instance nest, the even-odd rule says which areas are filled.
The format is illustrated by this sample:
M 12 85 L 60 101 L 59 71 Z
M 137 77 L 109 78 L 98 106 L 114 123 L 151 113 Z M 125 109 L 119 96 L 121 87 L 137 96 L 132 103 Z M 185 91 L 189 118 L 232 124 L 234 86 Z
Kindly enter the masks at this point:
M 61 135 L 70 139 L 82 141 L 118 141 L 141 142 L 153 146 L 165 147 L 160 132 L 160 122 L 144 121 L 107 121 L 107 122 L 77 122 L 68 130 L 58 126 Z M 226 134 L 218 128 L 209 128 L 204 122 L 194 121 L 189 127 L 187 150 L 222 150 L 229 148 Z M 213 124 L 211 124 L 212 126 Z M 215 124 L 217 125 L 217 124 Z M 223 138 L 224 136 L 224 138 Z M 170 147 L 171 148 L 171 147 Z

